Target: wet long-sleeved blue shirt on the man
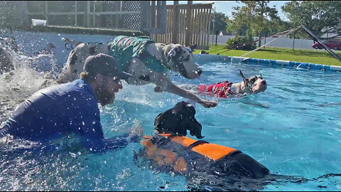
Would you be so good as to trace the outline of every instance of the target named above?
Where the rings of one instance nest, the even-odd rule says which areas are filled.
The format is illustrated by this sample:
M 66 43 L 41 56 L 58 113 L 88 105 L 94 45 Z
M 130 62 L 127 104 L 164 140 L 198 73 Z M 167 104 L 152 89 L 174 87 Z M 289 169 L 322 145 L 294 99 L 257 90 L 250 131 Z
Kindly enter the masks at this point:
M 108 142 L 117 144 L 117 138 L 104 142 L 97 100 L 91 85 L 84 80 L 55 85 L 34 93 L 16 108 L 0 130 L 0 137 L 11 134 L 44 142 L 70 133 L 80 135 L 88 149 L 112 147 L 110 144 L 108 146 Z M 125 140 L 120 142 L 124 146 L 127 144 Z

